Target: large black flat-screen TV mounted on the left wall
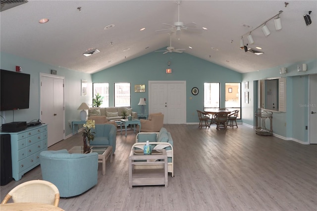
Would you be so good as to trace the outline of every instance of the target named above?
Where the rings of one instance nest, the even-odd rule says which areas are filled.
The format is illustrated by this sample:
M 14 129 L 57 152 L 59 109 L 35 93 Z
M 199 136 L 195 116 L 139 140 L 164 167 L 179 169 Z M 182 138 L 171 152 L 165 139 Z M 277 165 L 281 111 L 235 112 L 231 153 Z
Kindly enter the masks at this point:
M 30 75 L 0 70 L 0 110 L 29 108 Z

